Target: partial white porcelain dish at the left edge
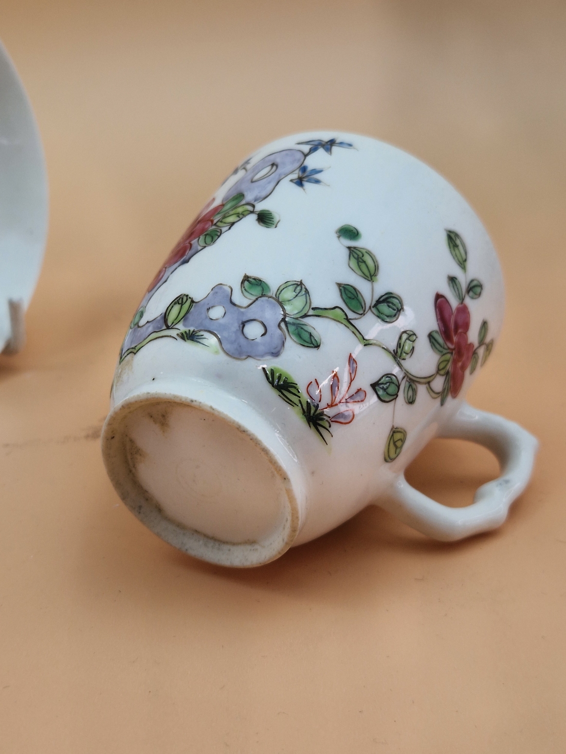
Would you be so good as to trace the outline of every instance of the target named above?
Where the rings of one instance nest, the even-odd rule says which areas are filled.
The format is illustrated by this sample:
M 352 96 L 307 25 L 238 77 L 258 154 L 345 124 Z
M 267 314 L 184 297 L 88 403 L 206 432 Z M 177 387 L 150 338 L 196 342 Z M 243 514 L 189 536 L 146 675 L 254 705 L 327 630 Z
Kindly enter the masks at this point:
M 8 302 L 21 301 L 25 309 L 32 298 L 47 222 L 42 145 L 26 93 L 0 43 L 0 351 L 12 335 Z

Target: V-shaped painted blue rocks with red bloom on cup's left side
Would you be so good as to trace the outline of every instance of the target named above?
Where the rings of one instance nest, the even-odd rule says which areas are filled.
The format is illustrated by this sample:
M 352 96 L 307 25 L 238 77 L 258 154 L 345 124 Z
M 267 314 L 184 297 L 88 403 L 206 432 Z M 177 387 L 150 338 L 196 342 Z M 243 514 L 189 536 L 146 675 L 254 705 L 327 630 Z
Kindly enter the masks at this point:
M 308 146 L 309 149 L 297 149 L 299 146 Z M 298 143 L 295 148 L 272 152 L 254 164 L 251 164 L 253 158 L 249 158 L 239 165 L 235 173 L 243 170 L 244 175 L 226 190 L 221 199 L 211 200 L 206 205 L 152 280 L 126 334 L 120 360 L 137 354 L 140 348 L 158 338 L 201 342 L 198 333 L 214 335 L 223 351 L 236 359 L 278 356 L 285 346 L 284 328 L 291 339 L 300 345 L 318 348 L 320 339 L 312 325 L 290 316 L 291 312 L 285 312 L 276 297 L 260 296 L 247 307 L 241 307 L 232 302 L 232 289 L 226 284 L 218 284 L 199 302 L 191 299 L 189 311 L 181 322 L 176 321 L 175 326 L 172 326 L 171 320 L 167 321 L 167 311 L 155 319 L 144 319 L 149 302 L 177 268 L 186 265 L 195 254 L 220 241 L 236 223 L 248 217 L 254 218 L 263 228 L 278 226 L 278 214 L 267 208 L 258 209 L 257 205 L 272 195 L 282 179 L 288 178 L 300 189 L 306 189 L 307 184 L 325 185 L 316 176 L 327 168 L 308 167 L 305 159 L 319 149 L 331 155 L 337 147 L 352 149 L 353 145 L 337 138 L 310 139 Z M 217 204 L 212 207 L 214 201 Z M 188 302 L 189 294 L 183 296 Z M 216 308 L 216 312 L 211 317 L 212 308 Z M 220 308 L 223 308 L 223 314 L 217 316 Z

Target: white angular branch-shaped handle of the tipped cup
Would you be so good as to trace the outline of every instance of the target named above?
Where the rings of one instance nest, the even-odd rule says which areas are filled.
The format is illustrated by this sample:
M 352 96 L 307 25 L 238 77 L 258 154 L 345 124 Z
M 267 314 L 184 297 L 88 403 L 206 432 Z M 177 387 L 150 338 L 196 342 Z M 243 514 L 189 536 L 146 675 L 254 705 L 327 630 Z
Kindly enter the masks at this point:
M 378 504 L 418 532 L 442 541 L 455 541 L 497 529 L 509 506 L 528 485 L 538 440 L 514 421 L 462 403 L 436 437 L 471 440 L 491 450 L 501 465 L 501 475 L 482 485 L 471 505 L 451 508 L 423 495 L 399 474 L 389 495 Z

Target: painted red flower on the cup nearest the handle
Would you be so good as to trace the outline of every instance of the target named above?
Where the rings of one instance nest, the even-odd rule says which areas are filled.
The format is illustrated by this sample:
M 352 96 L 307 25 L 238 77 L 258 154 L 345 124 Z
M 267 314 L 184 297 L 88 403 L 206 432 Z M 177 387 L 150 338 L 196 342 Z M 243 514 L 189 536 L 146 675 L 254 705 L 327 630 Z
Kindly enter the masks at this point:
M 458 304 L 452 311 L 446 296 L 435 296 L 436 321 L 448 350 L 452 353 L 450 366 L 450 394 L 457 396 L 462 388 L 464 373 L 469 367 L 474 353 L 473 343 L 468 342 L 469 309 L 466 304 Z

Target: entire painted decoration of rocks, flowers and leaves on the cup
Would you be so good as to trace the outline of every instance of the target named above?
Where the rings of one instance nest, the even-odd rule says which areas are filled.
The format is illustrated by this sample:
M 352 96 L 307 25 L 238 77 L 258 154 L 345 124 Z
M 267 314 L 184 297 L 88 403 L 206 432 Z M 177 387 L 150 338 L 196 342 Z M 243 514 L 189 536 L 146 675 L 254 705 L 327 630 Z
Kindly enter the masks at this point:
M 444 293 L 436 293 L 434 309 L 438 329 L 428 334 L 430 346 L 438 354 L 435 371 L 429 375 L 411 372 L 406 365 L 414 354 L 417 333 L 403 330 L 394 349 L 375 339 L 368 339 L 358 327 L 358 320 L 366 315 L 377 317 L 384 323 L 398 320 L 404 310 L 398 293 L 376 290 L 379 263 L 371 250 L 361 247 L 361 233 L 354 225 L 341 225 L 336 231 L 337 240 L 346 251 L 347 265 L 363 284 L 360 290 L 350 283 L 337 282 L 337 293 L 342 305 L 320 307 L 312 305 L 309 289 L 303 280 L 285 280 L 272 287 L 266 280 L 245 274 L 240 290 L 250 303 L 239 306 L 232 302 L 232 289 L 219 283 L 200 301 L 189 293 L 177 296 L 162 314 L 143 322 L 146 305 L 165 280 L 180 265 L 186 264 L 196 253 L 215 244 L 223 233 L 236 222 L 254 216 L 263 228 L 276 228 L 278 215 L 269 209 L 257 209 L 264 199 L 272 194 L 282 179 L 288 177 L 294 185 L 306 189 L 309 184 L 321 184 L 317 178 L 322 168 L 309 168 L 305 159 L 322 150 L 328 155 L 334 148 L 352 149 L 353 145 L 337 139 L 311 139 L 300 145 L 309 146 L 308 152 L 300 149 L 283 149 L 250 164 L 246 161 L 237 172 L 245 170 L 234 185 L 228 189 L 220 203 L 213 202 L 201 211 L 186 230 L 183 237 L 166 259 L 149 287 L 140 308 L 132 320 L 122 345 L 121 360 L 134 356 L 149 342 L 158 338 L 172 338 L 183 343 L 192 343 L 218 353 L 216 344 L 223 352 L 235 359 L 248 357 L 266 360 L 278 357 L 291 339 L 303 348 L 320 348 L 321 336 L 315 328 L 317 319 L 332 320 L 352 333 L 362 346 L 374 346 L 384 351 L 392 360 L 392 371 L 381 375 L 368 388 L 374 391 L 377 400 L 392 403 L 392 427 L 386 440 L 384 458 L 394 461 L 405 444 L 407 432 L 395 425 L 395 404 L 402 394 L 408 406 L 417 400 L 419 385 L 426 386 L 433 399 L 441 405 L 450 395 L 456 398 L 463 385 L 467 369 L 475 371 L 481 357 L 485 363 L 494 342 L 486 342 L 488 323 L 481 322 L 477 345 L 469 337 L 470 311 L 466 297 L 473 302 L 481 296 L 483 286 L 475 278 L 467 279 L 468 253 L 463 238 L 453 230 L 446 231 L 446 241 L 452 259 L 464 275 L 460 280 L 448 275 L 448 289 L 455 300 L 454 308 Z M 263 374 L 271 388 L 297 415 L 306 422 L 318 437 L 328 444 L 333 425 L 349 425 L 367 399 L 365 388 L 354 388 L 358 363 L 349 354 L 344 370 L 343 385 L 337 369 L 322 382 L 313 378 L 305 391 L 297 381 L 278 366 L 263 366 Z

